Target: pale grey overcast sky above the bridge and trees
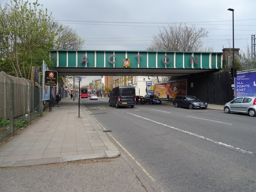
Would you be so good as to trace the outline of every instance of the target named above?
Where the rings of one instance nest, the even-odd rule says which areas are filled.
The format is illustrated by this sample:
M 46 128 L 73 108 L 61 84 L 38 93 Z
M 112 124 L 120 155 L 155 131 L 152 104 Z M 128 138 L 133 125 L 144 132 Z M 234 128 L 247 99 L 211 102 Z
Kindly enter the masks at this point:
M 6 0 L 0 0 L 3 4 Z M 8 0 L 7 2 L 10 2 Z M 34 2 L 34 0 L 29 0 Z M 251 46 L 256 34 L 255 0 L 38 0 L 59 23 L 69 25 L 86 40 L 84 50 L 146 50 L 159 28 L 172 23 L 205 28 L 204 47 L 232 47 L 234 9 L 235 48 Z

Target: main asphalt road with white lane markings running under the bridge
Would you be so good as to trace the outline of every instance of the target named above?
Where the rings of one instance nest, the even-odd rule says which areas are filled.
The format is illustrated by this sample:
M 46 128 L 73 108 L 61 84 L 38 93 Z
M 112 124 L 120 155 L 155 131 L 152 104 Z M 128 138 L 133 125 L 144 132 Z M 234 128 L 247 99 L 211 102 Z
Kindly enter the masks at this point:
M 172 105 L 81 100 L 158 191 L 256 191 L 256 118 Z

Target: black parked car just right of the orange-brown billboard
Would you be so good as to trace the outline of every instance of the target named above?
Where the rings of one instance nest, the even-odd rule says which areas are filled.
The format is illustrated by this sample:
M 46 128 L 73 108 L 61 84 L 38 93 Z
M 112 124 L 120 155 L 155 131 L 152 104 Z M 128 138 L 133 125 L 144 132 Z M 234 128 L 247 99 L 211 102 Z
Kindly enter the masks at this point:
M 193 109 L 193 108 L 206 109 L 208 106 L 207 102 L 199 100 L 198 98 L 192 95 L 187 95 L 187 96 L 178 95 L 173 99 L 172 104 L 175 107 L 188 107 L 190 109 Z

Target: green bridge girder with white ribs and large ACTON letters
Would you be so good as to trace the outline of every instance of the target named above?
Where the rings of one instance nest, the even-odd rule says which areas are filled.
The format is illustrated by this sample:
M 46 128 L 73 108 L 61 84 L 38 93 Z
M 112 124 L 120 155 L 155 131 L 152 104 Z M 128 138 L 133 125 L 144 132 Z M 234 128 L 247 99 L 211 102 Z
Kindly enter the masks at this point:
M 222 52 L 50 50 L 50 56 L 59 75 L 180 76 L 222 67 Z

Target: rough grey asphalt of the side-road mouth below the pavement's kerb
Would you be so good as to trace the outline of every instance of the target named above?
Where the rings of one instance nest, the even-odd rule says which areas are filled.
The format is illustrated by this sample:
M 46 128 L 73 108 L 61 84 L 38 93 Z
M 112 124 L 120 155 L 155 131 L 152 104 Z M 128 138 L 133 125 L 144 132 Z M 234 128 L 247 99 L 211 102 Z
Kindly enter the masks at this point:
M 0 168 L 1 192 L 146 192 L 124 158 Z

